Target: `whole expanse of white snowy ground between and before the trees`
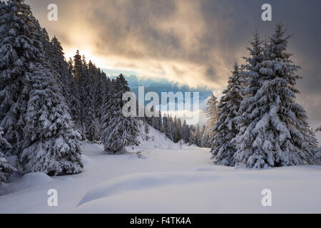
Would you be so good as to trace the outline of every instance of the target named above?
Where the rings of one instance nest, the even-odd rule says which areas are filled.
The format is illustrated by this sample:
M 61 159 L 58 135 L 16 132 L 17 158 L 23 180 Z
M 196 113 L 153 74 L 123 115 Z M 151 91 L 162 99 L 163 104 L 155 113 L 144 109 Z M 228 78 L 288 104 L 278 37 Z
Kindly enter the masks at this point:
M 150 135 L 123 155 L 84 144 L 79 175 L 15 175 L 0 186 L 0 213 L 321 212 L 321 166 L 235 170 L 212 165 L 209 149 Z M 58 191 L 58 207 L 47 205 L 49 189 Z M 272 191 L 272 207 L 262 206 L 263 189 Z

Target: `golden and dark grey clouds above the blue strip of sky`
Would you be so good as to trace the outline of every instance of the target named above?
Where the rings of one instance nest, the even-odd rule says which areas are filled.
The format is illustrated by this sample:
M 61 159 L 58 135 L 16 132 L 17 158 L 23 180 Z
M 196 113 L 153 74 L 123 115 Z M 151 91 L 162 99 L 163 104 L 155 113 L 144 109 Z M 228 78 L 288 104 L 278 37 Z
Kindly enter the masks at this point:
M 101 68 L 207 86 L 219 94 L 255 29 L 263 38 L 282 21 L 294 34 L 289 50 L 302 66 L 298 101 L 312 127 L 321 124 L 321 1 L 319 0 L 27 0 L 66 56 L 76 49 Z M 47 6 L 58 6 L 58 21 Z M 272 5 L 272 22 L 261 6 Z M 321 139 L 320 133 L 318 138 Z

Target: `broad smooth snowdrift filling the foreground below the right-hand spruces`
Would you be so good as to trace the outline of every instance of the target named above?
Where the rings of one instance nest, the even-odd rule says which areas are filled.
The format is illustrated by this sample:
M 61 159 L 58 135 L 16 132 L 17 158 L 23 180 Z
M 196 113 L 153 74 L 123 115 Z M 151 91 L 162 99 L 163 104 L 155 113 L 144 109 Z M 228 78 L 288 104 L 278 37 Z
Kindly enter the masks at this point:
M 217 168 L 210 172 L 151 172 L 116 177 L 89 190 L 73 212 L 320 212 L 321 198 L 316 196 L 321 183 L 315 181 L 320 179 L 320 167 L 260 171 Z M 264 189 L 272 191 L 273 207 L 262 206 Z

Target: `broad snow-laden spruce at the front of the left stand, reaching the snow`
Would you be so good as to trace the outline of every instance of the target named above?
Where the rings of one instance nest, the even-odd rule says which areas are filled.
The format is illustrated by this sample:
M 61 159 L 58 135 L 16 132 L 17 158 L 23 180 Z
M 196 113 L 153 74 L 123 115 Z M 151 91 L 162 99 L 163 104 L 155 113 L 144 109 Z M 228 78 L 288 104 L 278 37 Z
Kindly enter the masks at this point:
M 24 172 L 67 175 L 81 172 L 80 135 L 64 103 L 52 72 L 38 66 L 31 77 L 31 93 L 24 128 L 24 151 L 19 163 Z

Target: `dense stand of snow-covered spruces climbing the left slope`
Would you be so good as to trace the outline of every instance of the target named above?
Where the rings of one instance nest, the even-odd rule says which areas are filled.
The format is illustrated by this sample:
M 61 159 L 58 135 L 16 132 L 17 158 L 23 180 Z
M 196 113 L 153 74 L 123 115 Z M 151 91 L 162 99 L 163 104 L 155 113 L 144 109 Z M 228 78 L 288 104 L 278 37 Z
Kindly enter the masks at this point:
M 17 169 L 81 172 L 81 140 L 101 140 L 108 152 L 137 144 L 137 120 L 121 115 L 128 90 L 122 75 L 109 80 L 78 51 L 67 62 L 23 0 L 0 1 L 0 182 Z

